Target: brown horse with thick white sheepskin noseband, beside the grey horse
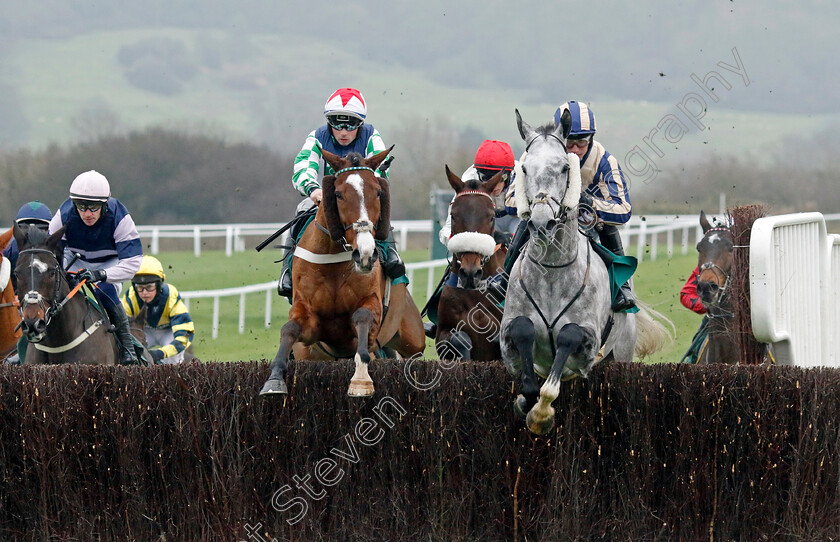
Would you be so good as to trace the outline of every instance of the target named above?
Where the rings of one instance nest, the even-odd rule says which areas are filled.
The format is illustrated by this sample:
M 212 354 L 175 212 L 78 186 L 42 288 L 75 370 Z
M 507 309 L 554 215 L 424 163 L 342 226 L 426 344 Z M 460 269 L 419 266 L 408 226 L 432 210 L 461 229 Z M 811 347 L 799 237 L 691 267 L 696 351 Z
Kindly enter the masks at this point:
M 435 348 L 441 359 L 501 359 L 499 326 L 501 295 L 488 289 L 488 279 L 504 271 L 507 247 L 497 244 L 496 205 L 491 195 L 502 182 L 501 172 L 487 180 L 463 182 L 446 167 L 455 190 L 450 207 L 452 253 L 448 280 L 438 302 Z

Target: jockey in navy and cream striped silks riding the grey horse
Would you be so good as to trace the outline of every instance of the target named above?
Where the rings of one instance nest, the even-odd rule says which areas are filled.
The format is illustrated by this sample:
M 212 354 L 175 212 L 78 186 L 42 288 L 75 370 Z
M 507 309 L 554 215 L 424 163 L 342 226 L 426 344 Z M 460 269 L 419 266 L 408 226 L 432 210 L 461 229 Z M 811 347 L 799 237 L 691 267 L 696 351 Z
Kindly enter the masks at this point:
M 566 139 L 566 149 L 580 158 L 581 196 L 578 214 L 582 222 L 591 220 L 594 212 L 599 224 L 595 228 L 601 244 L 610 252 L 624 256 L 621 244 L 621 234 L 618 225 L 630 220 L 632 206 L 630 205 L 630 186 L 624 177 L 624 172 L 618 160 L 607 152 L 603 145 L 595 141 L 595 114 L 583 103 L 569 101 L 557 108 L 554 113 L 554 123 L 559 126 L 563 113 L 568 111 L 572 119 L 572 127 Z M 507 200 L 514 201 L 513 185 L 508 192 Z M 508 203 L 508 205 L 515 205 Z M 508 209 L 515 212 L 515 209 Z M 527 225 L 523 222 L 514 235 L 514 240 L 508 250 L 505 261 L 505 272 L 510 274 L 522 246 L 528 240 Z M 626 311 L 636 307 L 636 297 L 630 289 L 630 283 L 625 282 L 616 293 L 612 303 L 612 310 Z

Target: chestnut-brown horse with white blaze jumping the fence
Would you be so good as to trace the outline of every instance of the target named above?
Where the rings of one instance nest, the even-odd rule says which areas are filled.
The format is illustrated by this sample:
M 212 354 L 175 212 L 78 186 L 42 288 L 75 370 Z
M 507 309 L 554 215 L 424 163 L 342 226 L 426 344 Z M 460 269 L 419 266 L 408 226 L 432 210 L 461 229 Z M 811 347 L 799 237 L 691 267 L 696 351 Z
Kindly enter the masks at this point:
M 324 178 L 323 201 L 295 249 L 289 320 L 261 395 L 287 393 L 293 349 L 295 359 L 355 355 L 347 390 L 354 397 L 373 394 L 371 351 L 390 348 L 408 357 L 425 350 L 420 311 L 404 284 L 392 286 L 385 277 L 374 243 L 391 229 L 388 181 L 374 173 L 390 151 L 370 158 L 323 151 L 336 173 Z

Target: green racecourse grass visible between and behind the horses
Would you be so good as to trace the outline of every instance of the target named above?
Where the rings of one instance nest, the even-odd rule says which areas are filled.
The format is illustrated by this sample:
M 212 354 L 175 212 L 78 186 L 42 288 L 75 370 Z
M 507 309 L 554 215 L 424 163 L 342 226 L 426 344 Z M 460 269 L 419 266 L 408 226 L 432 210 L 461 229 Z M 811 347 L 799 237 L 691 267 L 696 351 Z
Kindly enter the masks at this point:
M 223 251 L 202 252 L 196 258 L 192 252 L 166 252 L 159 254 L 166 269 L 167 281 L 179 290 L 207 290 L 232 288 L 275 280 L 280 265 L 274 264 L 278 252 L 257 253 L 254 250 L 225 256 Z M 428 259 L 426 250 L 403 252 L 406 261 Z M 645 261 L 636 273 L 637 294 L 646 303 L 663 313 L 677 328 L 676 339 L 664 351 L 656 354 L 650 363 L 679 361 L 685 352 L 700 317 L 683 308 L 679 303 L 679 290 L 691 270 L 697 265 L 695 254 L 672 259 Z M 442 270 L 438 271 L 439 279 Z M 414 279 L 415 301 L 418 307 L 425 302 L 426 275 L 418 273 Z M 220 303 L 219 337 L 211 338 L 213 302 L 210 299 L 192 301 L 190 314 L 196 324 L 195 353 L 202 360 L 238 361 L 271 359 L 279 345 L 279 330 L 288 317 L 289 304 L 285 299 L 272 296 L 271 322 L 264 326 L 265 294 L 246 296 L 245 333 L 238 333 L 239 297 L 223 299 Z M 426 356 L 433 358 L 434 345 L 427 340 Z

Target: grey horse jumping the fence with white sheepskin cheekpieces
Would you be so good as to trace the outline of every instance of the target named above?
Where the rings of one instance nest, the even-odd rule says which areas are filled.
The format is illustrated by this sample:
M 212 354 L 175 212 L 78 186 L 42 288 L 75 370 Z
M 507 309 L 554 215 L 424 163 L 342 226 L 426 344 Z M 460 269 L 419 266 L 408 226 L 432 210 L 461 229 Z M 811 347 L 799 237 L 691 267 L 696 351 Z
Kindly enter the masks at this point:
M 531 431 L 544 434 L 554 426 L 551 403 L 562 380 L 586 377 L 602 359 L 629 362 L 634 352 L 653 353 L 669 334 L 644 303 L 637 314 L 610 310 L 607 268 L 578 230 L 580 163 L 566 152 L 568 112 L 558 126 L 534 129 L 518 110 L 516 122 L 526 152 L 515 197 L 531 241 L 510 274 L 501 350 L 508 371 L 522 377 L 514 409 Z M 646 335 L 638 344 L 637 325 Z

